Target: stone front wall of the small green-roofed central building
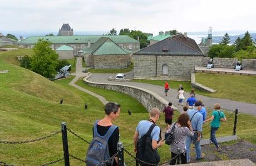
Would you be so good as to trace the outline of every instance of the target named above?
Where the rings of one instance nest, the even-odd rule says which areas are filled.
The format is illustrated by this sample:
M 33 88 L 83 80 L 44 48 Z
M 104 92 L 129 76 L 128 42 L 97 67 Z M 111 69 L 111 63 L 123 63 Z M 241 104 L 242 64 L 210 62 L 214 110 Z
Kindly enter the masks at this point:
M 125 69 L 130 55 L 93 55 L 93 65 L 95 69 Z

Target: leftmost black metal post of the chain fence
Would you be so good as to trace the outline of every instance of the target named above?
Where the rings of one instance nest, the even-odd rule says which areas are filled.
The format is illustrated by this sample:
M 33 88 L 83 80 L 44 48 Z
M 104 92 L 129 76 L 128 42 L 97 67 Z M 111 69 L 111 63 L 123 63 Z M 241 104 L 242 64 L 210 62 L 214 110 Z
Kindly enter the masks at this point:
M 66 122 L 61 123 L 61 133 L 62 133 L 62 144 L 63 144 L 63 155 L 64 155 L 65 166 L 70 166 L 70 157 L 68 154 Z

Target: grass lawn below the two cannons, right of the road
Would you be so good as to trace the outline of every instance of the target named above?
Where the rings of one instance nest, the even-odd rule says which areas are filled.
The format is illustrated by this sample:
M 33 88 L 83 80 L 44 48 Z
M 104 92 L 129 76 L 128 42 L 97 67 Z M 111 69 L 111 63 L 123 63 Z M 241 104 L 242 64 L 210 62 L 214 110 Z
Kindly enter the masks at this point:
M 206 74 L 197 72 L 196 82 L 216 90 L 205 96 L 227 98 L 229 100 L 256 103 L 256 76 Z

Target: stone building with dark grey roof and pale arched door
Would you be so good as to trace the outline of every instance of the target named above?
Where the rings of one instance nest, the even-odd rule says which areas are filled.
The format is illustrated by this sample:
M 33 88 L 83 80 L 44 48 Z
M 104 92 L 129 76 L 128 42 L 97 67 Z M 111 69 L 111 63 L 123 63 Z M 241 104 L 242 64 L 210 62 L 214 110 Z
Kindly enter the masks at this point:
M 187 34 L 177 34 L 143 48 L 134 56 L 134 78 L 190 80 L 204 53 Z

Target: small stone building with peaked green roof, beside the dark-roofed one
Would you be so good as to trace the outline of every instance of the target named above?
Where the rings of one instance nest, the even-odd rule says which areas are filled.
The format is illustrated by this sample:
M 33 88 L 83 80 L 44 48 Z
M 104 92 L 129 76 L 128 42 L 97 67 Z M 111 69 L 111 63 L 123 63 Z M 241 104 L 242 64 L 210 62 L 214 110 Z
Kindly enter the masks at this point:
M 121 48 L 106 37 L 84 48 L 83 56 L 86 66 L 95 69 L 125 69 L 131 64 L 131 51 Z

